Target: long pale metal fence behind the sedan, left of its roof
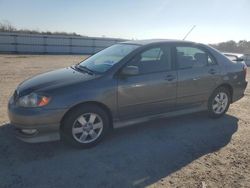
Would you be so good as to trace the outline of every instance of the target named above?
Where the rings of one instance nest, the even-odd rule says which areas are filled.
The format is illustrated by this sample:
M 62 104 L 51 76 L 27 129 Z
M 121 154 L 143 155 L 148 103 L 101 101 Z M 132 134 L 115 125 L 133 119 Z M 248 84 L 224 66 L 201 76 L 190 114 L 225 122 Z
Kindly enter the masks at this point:
M 0 32 L 0 53 L 94 54 L 123 39 Z

